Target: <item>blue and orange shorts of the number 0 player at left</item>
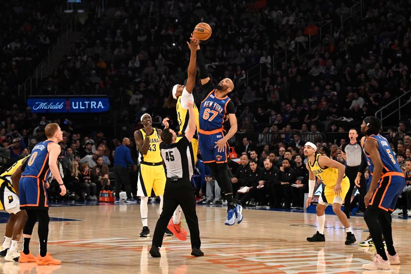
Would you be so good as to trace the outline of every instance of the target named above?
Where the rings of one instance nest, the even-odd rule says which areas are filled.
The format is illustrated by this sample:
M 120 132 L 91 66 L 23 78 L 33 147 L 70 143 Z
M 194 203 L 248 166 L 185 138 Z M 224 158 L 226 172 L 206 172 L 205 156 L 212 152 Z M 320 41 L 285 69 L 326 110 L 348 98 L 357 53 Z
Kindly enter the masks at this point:
M 46 182 L 30 175 L 22 176 L 19 184 L 20 209 L 48 210 Z

